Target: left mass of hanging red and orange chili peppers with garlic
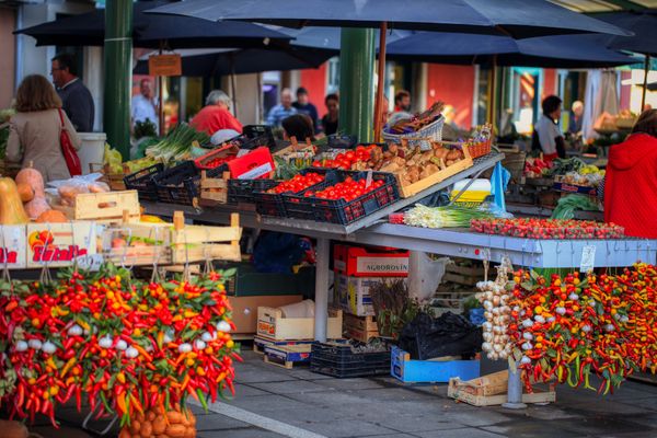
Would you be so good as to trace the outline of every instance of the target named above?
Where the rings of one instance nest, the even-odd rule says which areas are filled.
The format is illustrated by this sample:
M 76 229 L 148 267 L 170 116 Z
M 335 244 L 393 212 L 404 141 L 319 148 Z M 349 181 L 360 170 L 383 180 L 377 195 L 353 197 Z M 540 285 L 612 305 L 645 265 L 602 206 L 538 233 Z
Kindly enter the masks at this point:
M 57 404 L 74 399 L 80 410 L 87 400 L 124 425 L 136 412 L 184 407 L 187 395 L 205 406 L 206 396 L 233 392 L 224 276 L 149 283 L 105 265 L 51 284 L 3 283 L 0 379 L 15 378 L 0 402 L 12 416 L 42 413 L 55 424 Z

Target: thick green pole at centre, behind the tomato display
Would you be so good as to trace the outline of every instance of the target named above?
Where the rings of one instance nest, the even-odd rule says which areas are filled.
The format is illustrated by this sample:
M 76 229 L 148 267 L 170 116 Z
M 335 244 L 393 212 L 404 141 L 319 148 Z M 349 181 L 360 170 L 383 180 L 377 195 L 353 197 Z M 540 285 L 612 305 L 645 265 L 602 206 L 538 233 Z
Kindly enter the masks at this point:
M 373 140 L 373 28 L 343 28 L 339 51 L 339 131 Z

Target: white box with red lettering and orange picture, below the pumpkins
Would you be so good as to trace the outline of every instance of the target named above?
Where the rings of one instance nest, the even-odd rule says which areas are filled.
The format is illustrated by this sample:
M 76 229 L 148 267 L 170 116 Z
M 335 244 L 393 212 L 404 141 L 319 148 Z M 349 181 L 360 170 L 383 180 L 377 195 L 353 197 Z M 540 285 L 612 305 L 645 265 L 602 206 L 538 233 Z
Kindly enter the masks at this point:
M 69 266 L 76 257 L 96 254 L 95 222 L 27 224 L 27 267 Z

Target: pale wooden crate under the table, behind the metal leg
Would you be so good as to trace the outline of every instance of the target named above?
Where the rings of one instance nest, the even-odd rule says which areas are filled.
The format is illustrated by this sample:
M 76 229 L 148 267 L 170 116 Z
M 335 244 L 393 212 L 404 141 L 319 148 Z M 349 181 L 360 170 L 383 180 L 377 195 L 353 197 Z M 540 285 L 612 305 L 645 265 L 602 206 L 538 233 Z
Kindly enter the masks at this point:
M 326 337 L 342 337 L 342 310 L 328 311 Z M 283 318 L 280 309 L 258 307 L 256 333 L 275 341 L 314 339 L 314 318 Z

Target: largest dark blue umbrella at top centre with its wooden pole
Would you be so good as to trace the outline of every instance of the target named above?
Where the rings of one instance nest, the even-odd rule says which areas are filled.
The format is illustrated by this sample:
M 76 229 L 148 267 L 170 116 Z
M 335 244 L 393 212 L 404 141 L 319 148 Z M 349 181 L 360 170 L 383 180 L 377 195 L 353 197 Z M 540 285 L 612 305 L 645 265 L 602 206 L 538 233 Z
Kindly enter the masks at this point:
M 544 0 L 187 0 L 150 12 L 206 20 L 251 21 L 301 26 L 380 27 L 379 85 L 374 114 L 383 102 L 385 32 L 394 28 L 505 34 L 529 37 L 568 33 L 627 35 L 600 22 Z M 374 132 L 381 131 L 374 117 Z

